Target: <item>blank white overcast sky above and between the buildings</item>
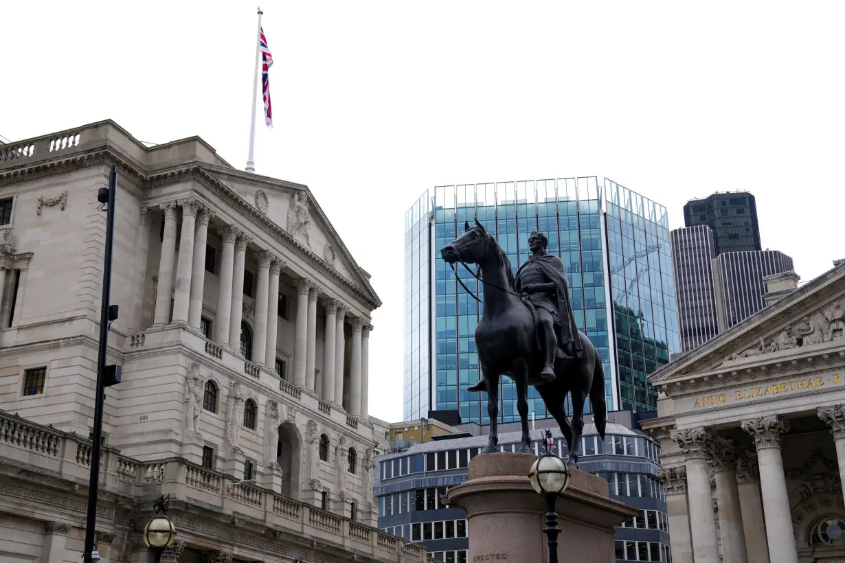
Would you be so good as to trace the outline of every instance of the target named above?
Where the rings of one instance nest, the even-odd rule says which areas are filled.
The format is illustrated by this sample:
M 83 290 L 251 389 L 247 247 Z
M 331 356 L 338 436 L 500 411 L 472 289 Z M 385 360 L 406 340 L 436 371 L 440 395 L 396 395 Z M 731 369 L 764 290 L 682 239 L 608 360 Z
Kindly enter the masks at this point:
M 435 185 L 607 176 L 669 210 L 757 198 L 804 280 L 845 257 L 834 2 L 270 1 L 275 129 L 256 169 L 307 184 L 384 306 L 371 414 L 401 420 L 402 223 Z M 8 2 L 0 135 L 112 118 L 247 157 L 252 2 Z M 260 111 L 260 106 L 259 106 Z

